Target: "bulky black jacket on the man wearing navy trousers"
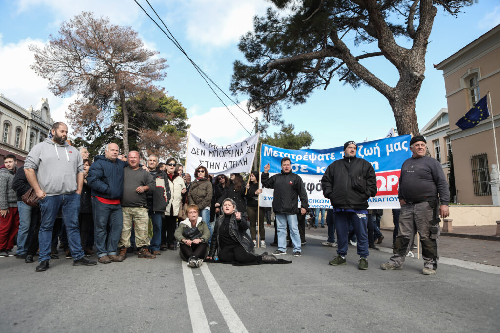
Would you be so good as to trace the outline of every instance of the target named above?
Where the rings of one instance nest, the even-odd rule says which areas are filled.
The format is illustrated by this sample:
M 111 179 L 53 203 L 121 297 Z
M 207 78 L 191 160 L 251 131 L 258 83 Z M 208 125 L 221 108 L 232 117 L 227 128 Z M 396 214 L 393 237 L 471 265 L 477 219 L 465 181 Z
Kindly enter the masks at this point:
M 321 186 L 333 208 L 365 210 L 368 198 L 377 192 L 375 170 L 368 161 L 355 156 L 328 165 Z

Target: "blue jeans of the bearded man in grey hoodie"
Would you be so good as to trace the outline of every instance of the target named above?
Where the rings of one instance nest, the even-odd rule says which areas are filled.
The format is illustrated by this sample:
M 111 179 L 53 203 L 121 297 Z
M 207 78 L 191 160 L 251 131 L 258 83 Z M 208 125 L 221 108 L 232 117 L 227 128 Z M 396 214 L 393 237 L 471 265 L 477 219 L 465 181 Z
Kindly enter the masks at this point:
M 59 209 L 62 210 L 62 219 L 67 230 L 69 249 L 73 260 L 81 259 L 85 253 L 80 245 L 80 229 L 78 228 L 78 211 L 80 210 L 80 195 L 70 194 L 47 195 L 38 201 L 40 204 L 40 229 L 38 231 L 38 245 L 40 256 L 38 262 L 50 260 L 50 245 L 52 242 L 52 228 Z

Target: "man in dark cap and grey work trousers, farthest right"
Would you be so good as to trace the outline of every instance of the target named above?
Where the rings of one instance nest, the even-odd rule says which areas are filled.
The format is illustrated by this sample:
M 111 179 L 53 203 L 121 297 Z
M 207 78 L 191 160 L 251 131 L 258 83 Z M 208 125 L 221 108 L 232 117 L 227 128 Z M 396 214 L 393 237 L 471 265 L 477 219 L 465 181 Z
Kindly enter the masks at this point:
M 409 142 L 411 158 L 404 161 L 399 177 L 399 234 L 389 262 L 380 265 L 383 270 L 401 269 L 414 229 L 420 234 L 422 244 L 422 274 L 434 275 L 437 268 L 438 214 L 443 219 L 449 216 L 449 188 L 441 164 L 425 155 L 425 144 L 425 138 L 421 135 Z

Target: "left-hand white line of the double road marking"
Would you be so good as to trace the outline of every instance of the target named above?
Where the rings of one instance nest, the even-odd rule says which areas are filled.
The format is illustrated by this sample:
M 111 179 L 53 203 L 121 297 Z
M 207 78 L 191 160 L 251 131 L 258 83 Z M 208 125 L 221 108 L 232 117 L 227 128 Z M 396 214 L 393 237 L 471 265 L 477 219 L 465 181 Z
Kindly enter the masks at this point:
M 186 291 L 187 307 L 189 309 L 189 318 L 191 319 L 192 332 L 210 332 L 210 326 L 206 320 L 205 312 L 199 298 L 198 288 L 194 283 L 192 268 L 187 267 L 186 263 L 180 261 L 182 265 L 182 276 L 184 277 L 184 289 Z

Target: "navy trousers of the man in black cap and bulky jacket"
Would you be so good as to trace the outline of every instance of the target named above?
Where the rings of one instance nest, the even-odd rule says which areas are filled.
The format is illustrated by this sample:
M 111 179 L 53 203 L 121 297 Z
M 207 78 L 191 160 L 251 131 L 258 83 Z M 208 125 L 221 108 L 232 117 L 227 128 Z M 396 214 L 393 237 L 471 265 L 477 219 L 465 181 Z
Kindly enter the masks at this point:
M 338 238 L 337 254 L 342 257 L 345 257 L 347 254 L 347 234 L 349 233 L 348 225 L 350 222 L 357 236 L 357 254 L 361 257 L 367 257 L 369 253 L 366 214 L 353 212 L 335 212 L 334 214 Z

